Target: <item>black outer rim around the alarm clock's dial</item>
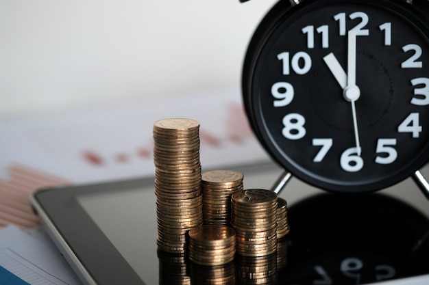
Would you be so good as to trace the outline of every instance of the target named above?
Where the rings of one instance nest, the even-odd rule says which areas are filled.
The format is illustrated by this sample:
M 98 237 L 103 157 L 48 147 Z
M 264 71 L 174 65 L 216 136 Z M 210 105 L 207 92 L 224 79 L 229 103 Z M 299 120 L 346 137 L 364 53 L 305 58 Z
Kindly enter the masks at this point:
M 252 90 L 255 88 L 254 79 L 256 73 L 256 66 L 258 64 L 259 57 L 262 53 L 262 50 L 267 44 L 272 33 L 274 33 L 280 25 L 285 21 L 289 16 L 295 16 L 296 13 L 302 11 L 302 8 L 305 8 L 308 5 L 314 5 L 315 8 L 322 7 L 326 4 L 343 4 L 344 0 L 304 0 L 299 2 L 299 4 L 291 5 L 289 1 L 280 0 L 276 3 L 267 15 L 262 19 L 260 25 L 257 27 L 252 40 L 249 42 L 247 53 L 243 62 L 243 74 L 242 74 L 242 92 L 243 92 L 243 105 L 245 107 L 245 112 L 247 114 L 247 120 L 254 131 L 258 141 L 262 147 L 268 152 L 270 157 L 278 163 L 280 166 L 284 167 L 286 171 L 291 172 L 293 176 L 307 182 L 308 184 L 323 189 L 329 192 L 336 193 L 367 193 L 378 191 L 380 189 L 385 189 L 392 185 L 395 185 L 402 180 L 413 175 L 421 167 L 429 162 L 429 143 L 426 144 L 426 150 L 420 152 L 419 157 L 415 157 L 404 167 L 401 167 L 400 170 L 395 172 L 393 176 L 388 176 L 387 178 L 377 179 L 375 182 L 366 182 L 365 184 L 359 184 L 357 182 L 344 182 L 340 180 L 335 180 L 334 178 L 329 179 L 330 181 L 335 182 L 326 182 L 328 179 L 317 178 L 317 174 L 314 174 L 312 171 L 307 171 L 304 167 L 295 167 L 295 163 L 291 163 L 291 159 L 284 157 L 280 154 L 280 151 L 277 148 L 278 143 L 270 139 L 271 131 L 262 131 L 259 128 L 265 123 L 265 120 L 261 118 L 259 113 L 260 106 L 254 104 L 254 96 L 252 96 Z M 412 3 L 405 3 L 400 1 L 392 0 L 348 0 L 347 3 L 356 3 L 362 5 L 373 5 L 378 8 L 383 8 L 385 10 L 393 10 L 397 14 L 401 14 L 404 18 L 407 18 L 407 21 L 414 25 L 416 28 L 421 30 L 421 33 L 428 38 L 429 43 L 429 16 L 422 14 L 422 11 L 429 11 L 429 1 L 425 3 L 419 2 L 418 5 L 413 5 Z M 405 13 L 405 15 L 403 14 Z M 417 23 L 411 22 L 410 18 L 418 19 Z M 258 94 L 255 96 L 258 98 Z M 259 117 L 258 117 L 259 116 Z M 281 150 L 281 148 L 280 148 Z M 282 150 L 281 152 L 284 152 Z M 278 154 L 276 156 L 275 154 Z M 304 170 L 302 170 L 304 169 Z M 369 180 L 368 180 L 369 181 Z

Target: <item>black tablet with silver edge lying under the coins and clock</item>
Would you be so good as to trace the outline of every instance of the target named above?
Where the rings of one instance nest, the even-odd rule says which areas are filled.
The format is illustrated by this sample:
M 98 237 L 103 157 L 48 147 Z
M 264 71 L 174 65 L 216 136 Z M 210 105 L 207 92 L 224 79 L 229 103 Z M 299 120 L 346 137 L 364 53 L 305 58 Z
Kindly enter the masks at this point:
M 272 163 L 228 169 L 244 174 L 247 189 L 269 189 L 282 173 Z M 429 202 L 412 181 L 351 196 L 292 180 L 280 195 L 289 203 L 286 267 L 275 271 L 274 283 L 255 280 L 248 272 L 255 260 L 236 258 L 236 278 L 228 284 L 429 282 Z M 157 249 L 155 201 L 154 178 L 41 189 L 32 196 L 34 210 L 82 282 L 99 285 L 171 284 L 162 277 L 163 258 L 177 258 Z M 171 270 L 173 265 L 167 262 Z M 191 267 L 186 260 L 181 268 L 195 284 Z

